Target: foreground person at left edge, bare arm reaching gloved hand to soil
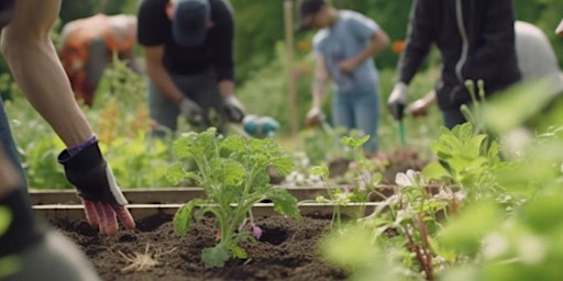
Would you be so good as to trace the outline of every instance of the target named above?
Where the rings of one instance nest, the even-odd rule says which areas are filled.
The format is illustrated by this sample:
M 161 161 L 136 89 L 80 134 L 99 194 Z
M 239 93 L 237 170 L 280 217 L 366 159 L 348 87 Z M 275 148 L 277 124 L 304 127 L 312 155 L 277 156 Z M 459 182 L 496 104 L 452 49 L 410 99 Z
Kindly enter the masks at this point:
M 19 87 L 67 149 L 58 156 L 66 178 L 78 190 L 88 222 L 106 235 L 135 223 L 98 140 L 76 103 L 70 85 L 48 40 L 62 0 L 3 0 L 1 52 Z M 8 119 L 0 100 L 0 215 L 9 217 L 0 234 L 2 280 L 99 280 L 82 252 L 46 223 L 34 218 Z M 4 259 L 5 258 L 5 259 Z

